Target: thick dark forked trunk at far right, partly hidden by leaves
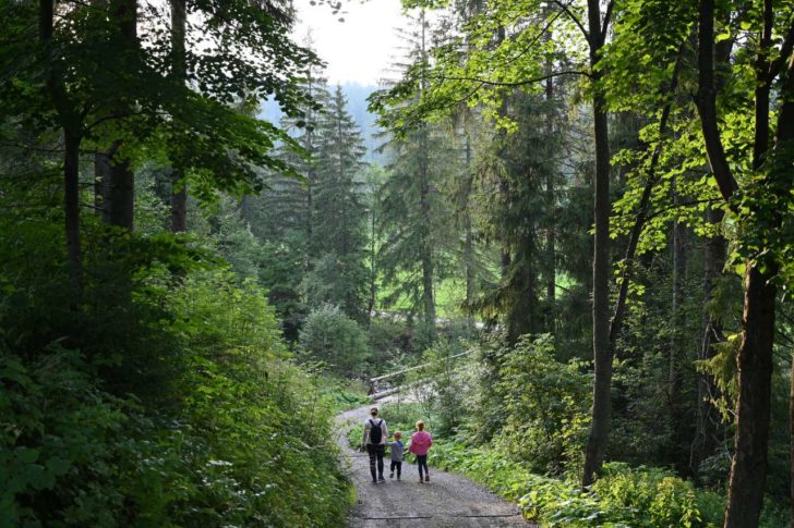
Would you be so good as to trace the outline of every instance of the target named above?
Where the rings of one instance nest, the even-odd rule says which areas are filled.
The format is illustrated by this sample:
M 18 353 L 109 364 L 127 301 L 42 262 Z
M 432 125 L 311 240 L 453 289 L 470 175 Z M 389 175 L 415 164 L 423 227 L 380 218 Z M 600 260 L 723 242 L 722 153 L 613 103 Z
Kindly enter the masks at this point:
M 763 2 L 763 34 L 756 62 L 756 130 L 754 169 L 766 158 L 769 138 L 768 52 L 773 22 L 771 0 Z M 698 13 L 698 97 L 706 150 L 720 192 L 726 201 L 737 189 L 725 157 L 717 115 L 714 87 L 713 39 L 714 0 L 701 0 Z M 781 97 L 781 100 L 785 100 Z M 758 119 L 760 118 L 760 119 Z M 780 177 L 774 174 L 772 177 Z M 778 213 L 777 214 L 779 218 Z M 765 257 L 761 257 L 765 258 Z M 763 501 L 767 477 L 767 445 L 771 400 L 772 346 L 774 340 L 774 303 L 777 288 L 771 279 L 778 263 L 767 256 L 765 271 L 747 262 L 745 298 L 742 317 L 743 333 L 738 351 L 738 400 L 736 402 L 735 454 L 731 465 L 726 528 L 757 526 Z

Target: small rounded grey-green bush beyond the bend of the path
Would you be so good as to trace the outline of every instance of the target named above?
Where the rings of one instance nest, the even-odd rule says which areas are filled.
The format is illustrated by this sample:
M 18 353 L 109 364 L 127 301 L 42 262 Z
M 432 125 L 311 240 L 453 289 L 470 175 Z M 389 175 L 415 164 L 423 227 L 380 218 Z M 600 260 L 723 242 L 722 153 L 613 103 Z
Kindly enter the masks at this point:
M 309 314 L 300 332 L 300 347 L 305 357 L 324 361 L 333 372 L 348 377 L 361 373 L 369 355 L 361 327 L 333 305 Z

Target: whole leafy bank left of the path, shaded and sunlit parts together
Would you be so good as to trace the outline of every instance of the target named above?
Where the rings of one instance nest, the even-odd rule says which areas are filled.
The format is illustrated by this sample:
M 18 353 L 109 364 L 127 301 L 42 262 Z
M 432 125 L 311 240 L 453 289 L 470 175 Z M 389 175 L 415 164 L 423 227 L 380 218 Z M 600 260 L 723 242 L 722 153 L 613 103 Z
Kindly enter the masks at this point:
M 344 523 L 349 482 L 330 398 L 292 364 L 265 292 L 222 271 L 168 281 L 142 270 L 130 328 L 97 328 L 94 341 L 88 317 L 64 327 L 68 310 L 44 311 L 35 288 L 0 296 L 0 328 L 19 317 L 3 310 L 9 295 L 35 300 L 31 315 L 44 321 L 38 334 L 0 341 L 0 525 Z M 47 333 L 92 355 L 62 340 L 32 346 Z M 159 357 L 127 357 L 146 340 L 141 356 Z

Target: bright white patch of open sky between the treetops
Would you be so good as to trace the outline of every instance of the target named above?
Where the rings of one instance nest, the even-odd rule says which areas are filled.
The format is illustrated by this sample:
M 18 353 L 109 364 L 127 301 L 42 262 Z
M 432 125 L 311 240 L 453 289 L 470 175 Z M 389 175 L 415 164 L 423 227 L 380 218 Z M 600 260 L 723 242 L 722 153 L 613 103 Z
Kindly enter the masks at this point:
M 311 29 L 313 48 L 327 62 L 328 83 L 378 85 L 399 54 L 396 29 L 405 24 L 400 0 L 348 0 L 336 15 L 311 1 L 294 0 L 299 23 L 293 36 L 303 44 Z

